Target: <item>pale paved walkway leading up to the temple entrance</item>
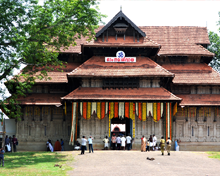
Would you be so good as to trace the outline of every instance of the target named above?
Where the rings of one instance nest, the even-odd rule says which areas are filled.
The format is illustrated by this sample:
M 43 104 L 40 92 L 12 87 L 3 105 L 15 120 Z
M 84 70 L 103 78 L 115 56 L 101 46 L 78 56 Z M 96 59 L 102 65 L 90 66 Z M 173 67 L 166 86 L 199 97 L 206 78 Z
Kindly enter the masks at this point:
M 208 158 L 203 152 L 171 152 L 170 156 L 159 151 L 94 151 L 79 155 L 74 151 L 73 171 L 77 176 L 219 176 L 220 160 Z M 154 161 L 146 160 L 155 158 Z

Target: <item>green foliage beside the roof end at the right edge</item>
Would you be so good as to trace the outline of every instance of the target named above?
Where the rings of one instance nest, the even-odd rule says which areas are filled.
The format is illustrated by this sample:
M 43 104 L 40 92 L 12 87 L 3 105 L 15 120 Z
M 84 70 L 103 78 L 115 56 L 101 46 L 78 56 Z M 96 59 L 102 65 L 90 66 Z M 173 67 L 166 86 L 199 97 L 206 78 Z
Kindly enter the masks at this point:
M 220 37 L 214 32 L 209 32 L 209 40 L 211 45 L 209 45 L 208 50 L 215 54 L 215 57 L 210 62 L 210 66 L 215 70 L 220 71 Z

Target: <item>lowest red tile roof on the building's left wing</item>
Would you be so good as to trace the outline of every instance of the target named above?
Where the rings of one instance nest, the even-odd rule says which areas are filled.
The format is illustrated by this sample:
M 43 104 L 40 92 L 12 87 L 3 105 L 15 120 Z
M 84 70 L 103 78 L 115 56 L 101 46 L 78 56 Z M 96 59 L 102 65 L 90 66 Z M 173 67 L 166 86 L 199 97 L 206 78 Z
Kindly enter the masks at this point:
M 64 94 L 30 94 L 17 100 L 21 105 L 62 105 L 60 97 Z M 10 99 L 10 98 L 9 98 Z

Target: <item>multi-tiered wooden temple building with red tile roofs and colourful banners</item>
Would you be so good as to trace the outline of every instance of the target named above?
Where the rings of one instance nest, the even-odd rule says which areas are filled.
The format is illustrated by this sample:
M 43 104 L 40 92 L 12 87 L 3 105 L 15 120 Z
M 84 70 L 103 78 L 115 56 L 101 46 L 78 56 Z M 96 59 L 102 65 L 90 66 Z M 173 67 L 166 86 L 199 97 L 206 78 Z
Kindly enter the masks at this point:
M 220 149 L 220 74 L 208 66 L 206 27 L 136 26 L 119 11 L 96 39 L 76 42 L 59 54 L 63 72 L 19 98 L 18 150 L 61 138 L 71 150 L 83 135 L 102 149 L 113 132 L 130 134 L 133 149 L 152 134 L 181 140 L 180 150 Z

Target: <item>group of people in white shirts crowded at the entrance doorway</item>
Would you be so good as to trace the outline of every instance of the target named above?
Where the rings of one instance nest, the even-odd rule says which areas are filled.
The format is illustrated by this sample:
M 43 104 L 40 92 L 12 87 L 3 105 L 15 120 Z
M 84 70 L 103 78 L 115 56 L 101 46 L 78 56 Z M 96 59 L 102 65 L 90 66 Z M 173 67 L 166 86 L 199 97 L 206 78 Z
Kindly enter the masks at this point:
M 107 138 L 107 136 L 106 136 Z M 115 150 L 125 150 L 125 147 L 127 148 L 127 150 L 131 150 L 131 142 L 132 142 L 132 138 L 130 136 L 130 134 L 128 134 L 126 137 L 124 135 L 122 135 L 122 137 L 120 135 L 116 136 L 114 133 L 112 134 L 112 138 L 111 138 L 111 142 L 112 142 L 112 149 Z

